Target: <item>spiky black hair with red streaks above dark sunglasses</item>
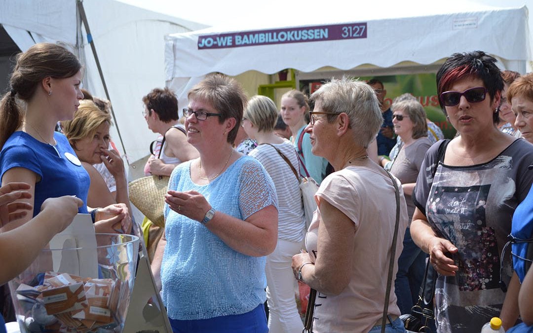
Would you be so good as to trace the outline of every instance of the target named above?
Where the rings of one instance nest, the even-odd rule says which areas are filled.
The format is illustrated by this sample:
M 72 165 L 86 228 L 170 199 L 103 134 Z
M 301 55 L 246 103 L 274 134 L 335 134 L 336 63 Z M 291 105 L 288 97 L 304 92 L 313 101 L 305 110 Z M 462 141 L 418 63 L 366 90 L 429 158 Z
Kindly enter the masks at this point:
M 502 72 L 496 66 L 497 60 L 483 51 L 454 53 L 442 64 L 437 72 L 437 94 L 448 91 L 458 80 L 464 78 L 480 79 L 490 96 L 494 100 L 496 92 L 503 90 Z M 446 113 L 446 108 L 439 98 L 440 107 Z M 498 112 L 492 115 L 492 121 L 499 121 Z

